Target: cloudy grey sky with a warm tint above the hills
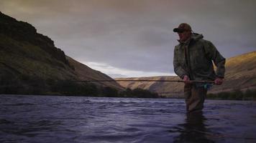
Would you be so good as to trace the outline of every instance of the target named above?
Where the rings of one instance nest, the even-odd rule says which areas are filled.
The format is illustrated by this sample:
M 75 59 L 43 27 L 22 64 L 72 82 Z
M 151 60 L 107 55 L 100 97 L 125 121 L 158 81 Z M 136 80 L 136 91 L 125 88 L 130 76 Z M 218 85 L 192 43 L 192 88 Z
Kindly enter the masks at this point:
M 77 61 L 110 77 L 175 75 L 173 28 L 188 23 L 230 58 L 256 51 L 255 0 L 1 0 Z

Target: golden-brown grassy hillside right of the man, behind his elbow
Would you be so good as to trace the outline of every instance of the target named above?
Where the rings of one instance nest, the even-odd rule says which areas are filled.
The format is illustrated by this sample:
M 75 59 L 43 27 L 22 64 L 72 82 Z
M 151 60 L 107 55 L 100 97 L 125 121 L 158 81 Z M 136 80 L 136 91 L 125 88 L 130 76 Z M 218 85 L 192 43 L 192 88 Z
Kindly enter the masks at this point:
M 227 59 L 225 82 L 211 92 L 229 92 L 256 88 L 256 51 Z

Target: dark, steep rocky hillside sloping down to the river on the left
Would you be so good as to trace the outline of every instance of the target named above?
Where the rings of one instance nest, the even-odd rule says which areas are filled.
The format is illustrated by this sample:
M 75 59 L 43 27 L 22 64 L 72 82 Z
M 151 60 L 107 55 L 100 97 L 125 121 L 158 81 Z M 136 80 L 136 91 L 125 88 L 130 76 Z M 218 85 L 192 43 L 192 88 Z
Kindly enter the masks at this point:
M 115 82 L 68 82 L 85 79 L 111 78 L 66 56 L 31 24 L 0 12 L 0 94 L 61 94 L 62 88 L 66 90 L 64 93 L 86 88 L 87 91 L 104 87 L 122 89 Z

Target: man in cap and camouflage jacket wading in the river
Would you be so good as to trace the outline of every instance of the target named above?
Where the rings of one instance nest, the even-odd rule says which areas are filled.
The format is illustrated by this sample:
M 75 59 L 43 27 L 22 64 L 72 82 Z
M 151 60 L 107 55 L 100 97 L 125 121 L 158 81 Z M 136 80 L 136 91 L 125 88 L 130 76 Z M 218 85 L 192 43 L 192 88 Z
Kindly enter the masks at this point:
M 202 34 L 192 33 L 190 25 L 180 24 L 173 31 L 177 32 L 180 38 L 179 44 L 174 49 L 173 66 L 175 74 L 185 82 L 187 112 L 201 111 L 204 108 L 207 89 L 204 83 L 191 82 L 191 80 L 212 80 L 214 84 L 222 84 L 225 59 L 211 41 L 204 40 Z

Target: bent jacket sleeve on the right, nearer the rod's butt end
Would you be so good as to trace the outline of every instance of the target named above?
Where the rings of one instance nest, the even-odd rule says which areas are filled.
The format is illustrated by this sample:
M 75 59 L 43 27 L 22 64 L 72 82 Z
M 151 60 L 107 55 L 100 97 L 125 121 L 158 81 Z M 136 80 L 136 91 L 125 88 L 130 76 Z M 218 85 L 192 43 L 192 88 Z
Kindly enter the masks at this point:
M 205 41 L 204 49 L 206 51 L 206 56 L 214 61 L 214 64 L 216 66 L 216 76 L 224 78 L 226 59 L 221 56 L 221 54 L 216 49 L 214 44 L 211 43 L 211 41 Z

